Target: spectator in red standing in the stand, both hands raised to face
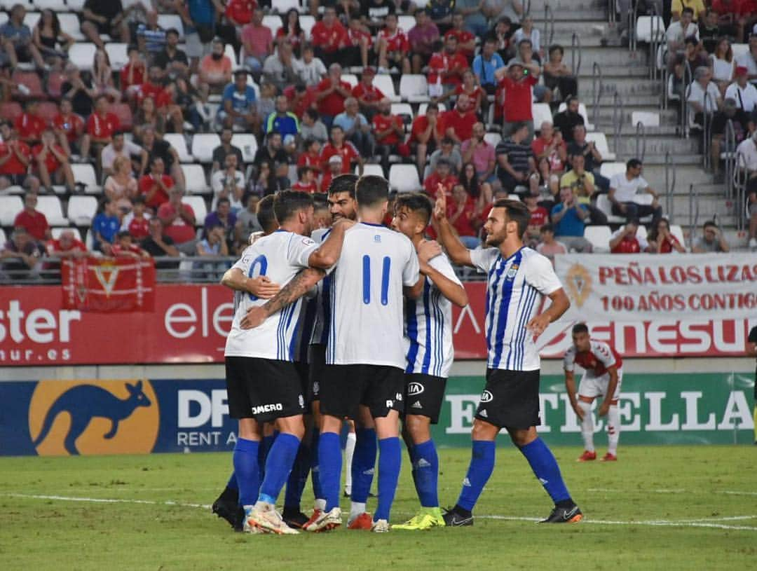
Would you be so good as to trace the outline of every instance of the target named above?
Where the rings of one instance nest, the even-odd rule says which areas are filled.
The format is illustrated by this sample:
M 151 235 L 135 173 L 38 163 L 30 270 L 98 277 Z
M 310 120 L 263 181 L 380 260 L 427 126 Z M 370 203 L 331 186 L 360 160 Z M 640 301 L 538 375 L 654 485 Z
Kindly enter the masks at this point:
M 503 138 L 512 135 L 516 124 L 526 123 L 528 126 L 528 136 L 526 141 L 534 138 L 534 116 L 531 114 L 531 102 L 533 93 L 531 88 L 539 82 L 539 67 L 535 66 L 534 70 L 529 68 L 528 75 L 525 75 L 524 67 L 521 61 L 510 60 L 507 67 L 502 67 L 494 72 L 500 82 L 500 95 L 495 96 L 497 101 L 502 101 L 504 125 L 502 129 Z

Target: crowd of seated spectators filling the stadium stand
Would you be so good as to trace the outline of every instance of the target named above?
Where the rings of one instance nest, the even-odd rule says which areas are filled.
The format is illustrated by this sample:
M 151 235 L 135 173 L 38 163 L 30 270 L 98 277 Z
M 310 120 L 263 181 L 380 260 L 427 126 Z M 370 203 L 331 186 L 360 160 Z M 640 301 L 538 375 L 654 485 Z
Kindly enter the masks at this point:
M 235 255 L 260 229 L 260 197 L 308 191 L 326 219 L 329 181 L 353 170 L 382 174 L 399 192 L 444 191 L 472 246 L 493 200 L 517 196 L 532 213 L 528 244 L 550 255 L 683 250 L 638 160 L 601 175 L 578 79 L 519 2 L 271 4 L 14 5 L 0 20 L 0 200 L 16 200 L 2 202 L 15 209 L 2 223 L 4 268 L 29 269 L 45 253 Z M 757 92 L 745 83 L 757 79 L 757 36 L 755 57 L 733 64 L 727 79 L 718 79 L 718 57 L 702 55 L 709 46 L 730 61 L 721 34 L 743 34 L 757 5 L 716 33 L 710 24 L 725 26 L 709 15 L 717 0 L 696 18 L 680 4 L 666 33 L 672 76 L 682 57 L 702 61 L 690 104 L 701 96 L 714 126 L 723 116 L 744 120 L 740 138 L 752 144 L 757 175 L 757 143 L 747 136 Z M 723 130 L 713 128 L 715 138 Z M 755 240 L 757 176 L 750 190 Z M 42 197 L 51 200 L 38 209 Z M 70 228 L 50 228 L 50 205 L 60 214 L 52 225 Z M 624 235 L 637 228 L 638 244 L 615 244 L 618 231 L 587 235 L 608 224 Z

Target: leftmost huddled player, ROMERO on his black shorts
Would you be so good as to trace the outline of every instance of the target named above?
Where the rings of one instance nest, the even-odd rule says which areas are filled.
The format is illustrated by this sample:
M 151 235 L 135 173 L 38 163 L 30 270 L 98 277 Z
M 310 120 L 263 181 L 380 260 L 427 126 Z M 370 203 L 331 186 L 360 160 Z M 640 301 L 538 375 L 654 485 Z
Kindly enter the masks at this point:
M 344 231 L 341 224 L 320 246 L 310 234 L 313 199 L 296 191 L 282 191 L 273 203 L 279 228 L 255 241 L 242 253 L 228 276 L 234 289 L 249 278 L 266 275 L 275 284 L 287 284 L 301 268 L 330 268 L 341 253 Z M 233 287 L 233 286 L 232 286 Z M 245 529 L 263 532 L 297 533 L 276 512 L 276 498 L 289 475 L 304 434 L 304 396 L 294 368 L 294 352 L 301 304 L 293 303 L 284 312 L 272 315 L 254 330 L 241 327 L 248 309 L 265 303 L 252 294 L 242 296 L 226 339 L 226 387 L 229 415 L 239 419 L 239 435 L 234 452 L 234 470 L 240 498 L 249 498 L 257 488 L 257 448 L 262 425 L 276 421 L 279 435 L 266 459 L 265 476 L 254 505 L 244 504 Z

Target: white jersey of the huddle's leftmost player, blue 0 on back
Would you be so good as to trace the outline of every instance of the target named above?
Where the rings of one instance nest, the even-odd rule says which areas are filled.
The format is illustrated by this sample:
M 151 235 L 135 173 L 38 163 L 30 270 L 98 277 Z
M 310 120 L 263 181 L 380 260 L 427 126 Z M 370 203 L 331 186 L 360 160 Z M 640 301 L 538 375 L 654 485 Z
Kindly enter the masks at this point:
M 310 254 L 318 249 L 309 237 L 277 230 L 248 246 L 232 267 L 245 272 L 249 278 L 266 275 L 282 287 L 303 268 L 307 268 Z M 297 356 L 297 330 L 300 323 L 302 300 L 270 315 L 259 327 L 242 329 L 239 326 L 247 310 L 262 306 L 265 299 L 251 293 L 241 293 L 235 303 L 234 320 L 229 337 L 226 337 L 226 357 L 257 357 L 279 361 L 295 361 Z

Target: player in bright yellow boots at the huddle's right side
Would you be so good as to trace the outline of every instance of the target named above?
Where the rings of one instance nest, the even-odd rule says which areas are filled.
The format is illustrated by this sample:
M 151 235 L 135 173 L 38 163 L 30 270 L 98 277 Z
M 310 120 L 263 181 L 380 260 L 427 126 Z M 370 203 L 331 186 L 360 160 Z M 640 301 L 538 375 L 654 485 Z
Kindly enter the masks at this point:
M 437 424 L 444 386 L 454 357 L 452 304 L 468 305 L 468 294 L 455 275 L 449 259 L 439 253 L 436 242 L 423 234 L 431 220 L 431 201 L 424 194 L 400 194 L 394 202 L 392 228 L 402 232 L 416 247 L 423 292 L 420 299 L 405 303 L 405 414 L 403 436 L 413 482 L 421 503 L 418 514 L 392 529 L 429 529 L 444 526 L 439 507 L 439 458 L 431 439 L 431 424 Z

